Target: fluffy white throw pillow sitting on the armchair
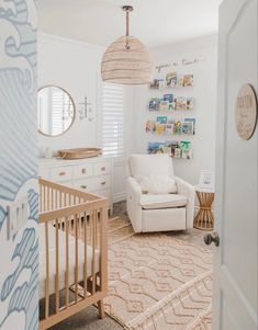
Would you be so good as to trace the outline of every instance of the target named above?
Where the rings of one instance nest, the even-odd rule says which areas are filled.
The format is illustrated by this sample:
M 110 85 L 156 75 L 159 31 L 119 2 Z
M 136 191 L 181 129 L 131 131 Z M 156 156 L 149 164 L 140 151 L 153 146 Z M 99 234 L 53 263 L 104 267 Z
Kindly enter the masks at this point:
M 167 175 L 149 174 L 141 181 L 141 187 L 145 194 L 176 194 L 178 192 L 176 181 Z

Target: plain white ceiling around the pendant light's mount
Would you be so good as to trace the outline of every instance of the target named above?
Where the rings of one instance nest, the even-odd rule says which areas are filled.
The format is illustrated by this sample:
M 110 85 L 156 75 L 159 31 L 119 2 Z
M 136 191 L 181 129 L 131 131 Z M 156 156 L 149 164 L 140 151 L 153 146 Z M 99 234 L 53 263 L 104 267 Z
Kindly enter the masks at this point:
M 132 4 L 131 35 L 148 47 L 217 32 L 222 0 L 41 0 L 40 31 L 108 46 L 125 33 L 124 4 Z

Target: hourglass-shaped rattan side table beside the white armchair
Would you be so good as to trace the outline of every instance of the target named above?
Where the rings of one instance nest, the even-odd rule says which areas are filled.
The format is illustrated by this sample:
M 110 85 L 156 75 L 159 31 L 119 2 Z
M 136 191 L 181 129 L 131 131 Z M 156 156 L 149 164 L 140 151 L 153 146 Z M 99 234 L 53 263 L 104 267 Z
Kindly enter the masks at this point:
M 215 193 L 197 189 L 200 209 L 194 218 L 193 227 L 202 230 L 212 230 L 214 228 L 214 217 L 212 213 L 212 203 Z

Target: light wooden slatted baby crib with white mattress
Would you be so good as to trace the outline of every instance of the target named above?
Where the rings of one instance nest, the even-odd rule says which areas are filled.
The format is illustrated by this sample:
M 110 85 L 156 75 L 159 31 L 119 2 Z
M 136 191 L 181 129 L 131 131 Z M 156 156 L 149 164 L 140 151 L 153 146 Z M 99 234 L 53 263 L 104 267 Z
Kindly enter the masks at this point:
M 106 198 L 40 179 L 40 329 L 98 304 L 108 288 Z

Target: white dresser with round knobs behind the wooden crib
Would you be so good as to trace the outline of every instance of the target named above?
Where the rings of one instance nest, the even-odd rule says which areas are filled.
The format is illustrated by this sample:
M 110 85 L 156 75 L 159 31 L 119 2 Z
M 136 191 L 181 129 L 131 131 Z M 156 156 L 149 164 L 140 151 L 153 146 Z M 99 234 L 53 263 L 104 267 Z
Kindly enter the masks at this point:
M 113 161 L 111 158 L 103 156 L 78 160 L 41 158 L 40 177 L 108 197 L 110 212 L 113 212 Z

